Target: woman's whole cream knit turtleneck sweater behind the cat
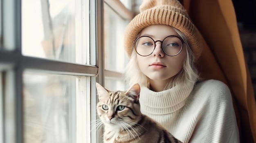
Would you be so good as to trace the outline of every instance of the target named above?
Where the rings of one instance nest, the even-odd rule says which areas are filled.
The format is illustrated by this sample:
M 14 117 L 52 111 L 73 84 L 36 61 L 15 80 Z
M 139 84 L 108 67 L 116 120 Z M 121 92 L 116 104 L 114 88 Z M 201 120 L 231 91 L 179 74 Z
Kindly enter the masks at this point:
M 141 87 L 141 112 L 183 143 L 239 143 L 229 88 L 217 80 L 161 92 Z

